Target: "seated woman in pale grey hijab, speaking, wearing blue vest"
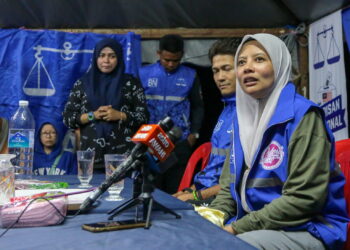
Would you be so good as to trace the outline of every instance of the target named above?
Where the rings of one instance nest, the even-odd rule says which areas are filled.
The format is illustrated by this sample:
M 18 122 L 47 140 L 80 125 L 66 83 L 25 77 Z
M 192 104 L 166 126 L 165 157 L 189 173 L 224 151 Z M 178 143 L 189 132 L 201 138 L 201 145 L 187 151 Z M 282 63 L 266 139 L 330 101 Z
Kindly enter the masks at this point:
M 287 47 L 247 35 L 235 68 L 234 142 L 211 208 L 259 249 L 341 249 L 349 220 L 333 135 L 322 109 L 289 82 Z

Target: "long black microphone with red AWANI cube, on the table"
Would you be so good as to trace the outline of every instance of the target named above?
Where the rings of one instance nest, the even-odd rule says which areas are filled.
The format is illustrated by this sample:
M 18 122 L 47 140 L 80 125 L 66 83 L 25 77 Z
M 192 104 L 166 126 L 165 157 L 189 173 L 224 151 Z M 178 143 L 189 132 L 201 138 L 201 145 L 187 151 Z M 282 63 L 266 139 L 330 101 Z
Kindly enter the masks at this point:
M 164 118 L 158 124 L 142 125 L 131 139 L 133 142 L 138 142 L 138 144 L 134 146 L 130 155 L 112 175 L 84 200 L 80 205 L 80 212 L 90 208 L 113 183 L 124 179 L 130 170 L 134 170 L 142 165 L 141 159 L 147 151 L 155 155 L 161 162 L 165 161 L 174 149 L 173 142 L 176 142 L 181 136 L 181 129 L 174 127 L 170 117 Z

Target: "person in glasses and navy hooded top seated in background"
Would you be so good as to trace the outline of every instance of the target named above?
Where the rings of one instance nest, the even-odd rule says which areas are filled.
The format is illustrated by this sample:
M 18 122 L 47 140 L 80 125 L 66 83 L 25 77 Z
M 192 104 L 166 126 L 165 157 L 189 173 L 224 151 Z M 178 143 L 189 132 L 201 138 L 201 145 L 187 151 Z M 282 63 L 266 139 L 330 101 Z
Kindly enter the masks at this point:
M 61 121 L 45 120 L 37 126 L 33 174 L 63 175 L 77 173 L 77 157 L 74 143 L 69 141 L 69 131 L 64 129 Z

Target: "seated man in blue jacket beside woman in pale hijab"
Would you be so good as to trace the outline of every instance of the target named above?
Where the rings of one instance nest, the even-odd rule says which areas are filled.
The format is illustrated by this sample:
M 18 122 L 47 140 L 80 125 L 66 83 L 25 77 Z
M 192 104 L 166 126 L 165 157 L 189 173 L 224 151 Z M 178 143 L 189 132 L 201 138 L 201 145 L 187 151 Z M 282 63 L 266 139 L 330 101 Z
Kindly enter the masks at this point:
M 236 116 L 236 74 L 234 56 L 237 45 L 234 39 L 215 42 L 209 50 L 209 59 L 216 86 L 220 90 L 224 109 L 211 137 L 212 149 L 208 165 L 194 178 L 190 188 L 174 194 L 180 200 L 194 204 L 210 203 L 220 190 L 219 178 L 232 140 L 232 124 Z

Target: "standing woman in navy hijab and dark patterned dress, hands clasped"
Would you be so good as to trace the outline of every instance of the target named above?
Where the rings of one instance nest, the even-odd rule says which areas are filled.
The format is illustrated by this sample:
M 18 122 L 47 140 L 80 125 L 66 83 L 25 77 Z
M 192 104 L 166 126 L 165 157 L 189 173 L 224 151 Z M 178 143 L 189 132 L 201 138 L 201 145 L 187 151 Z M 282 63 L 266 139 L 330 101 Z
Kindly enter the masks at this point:
M 114 39 L 101 40 L 63 111 L 64 123 L 80 129 L 80 150 L 95 151 L 94 169 L 101 172 L 104 154 L 128 154 L 134 146 L 130 137 L 148 121 L 141 84 L 124 69 L 122 46 Z

